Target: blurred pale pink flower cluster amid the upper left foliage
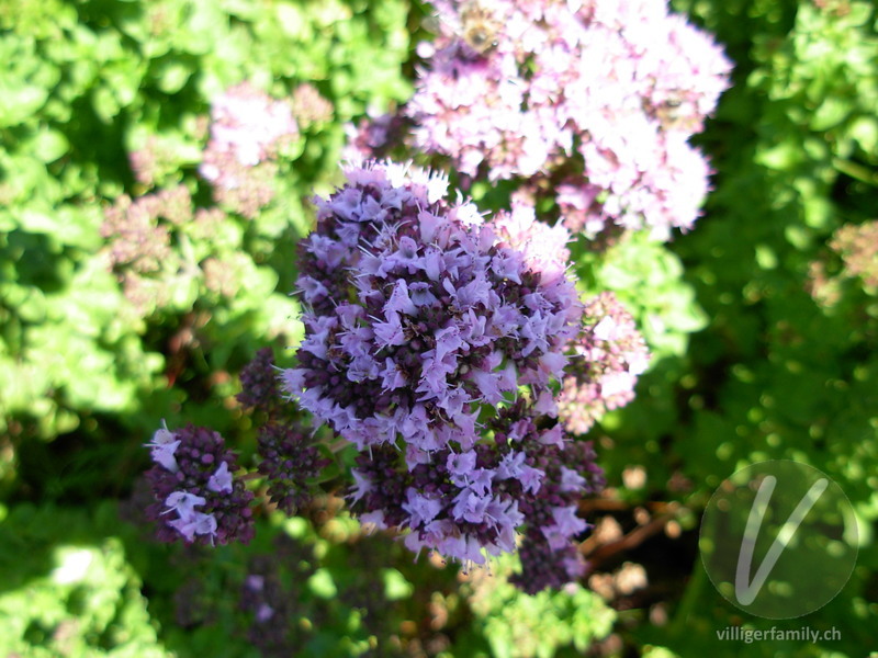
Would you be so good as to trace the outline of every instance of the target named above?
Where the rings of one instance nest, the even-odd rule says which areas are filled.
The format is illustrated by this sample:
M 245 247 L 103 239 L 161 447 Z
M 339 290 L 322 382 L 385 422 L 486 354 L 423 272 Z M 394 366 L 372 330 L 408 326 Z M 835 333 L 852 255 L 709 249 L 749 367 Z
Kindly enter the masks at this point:
M 199 172 L 217 203 L 254 218 L 274 197 L 278 148 L 299 136 L 292 106 L 243 82 L 214 99 L 211 122 Z

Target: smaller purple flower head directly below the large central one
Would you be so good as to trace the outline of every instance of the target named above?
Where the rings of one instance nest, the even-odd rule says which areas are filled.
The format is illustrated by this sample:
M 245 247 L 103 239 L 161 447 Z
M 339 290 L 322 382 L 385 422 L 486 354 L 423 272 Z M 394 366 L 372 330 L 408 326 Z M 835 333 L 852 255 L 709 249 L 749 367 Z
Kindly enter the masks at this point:
M 464 566 L 515 551 L 524 527 L 526 543 L 537 535 L 545 544 L 542 563 L 563 563 L 552 568 L 567 582 L 582 574 L 582 560 L 571 561 L 571 540 L 587 529 L 577 501 L 603 476 L 590 444 L 572 443 L 561 426 L 540 428 L 534 419 L 519 400 L 489 421 L 491 441 L 437 451 L 414 468 L 387 445 L 361 453 L 351 509 L 363 522 L 409 530 L 405 544 L 413 552 L 436 551 Z M 540 582 L 537 590 L 552 585 Z

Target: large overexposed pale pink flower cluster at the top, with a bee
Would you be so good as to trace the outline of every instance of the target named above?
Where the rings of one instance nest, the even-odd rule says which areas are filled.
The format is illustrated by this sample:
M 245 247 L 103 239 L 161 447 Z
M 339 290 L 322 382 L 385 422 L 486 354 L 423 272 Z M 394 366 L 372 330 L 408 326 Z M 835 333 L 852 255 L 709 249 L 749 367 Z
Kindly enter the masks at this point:
M 416 150 L 544 190 L 588 237 L 693 225 L 709 168 L 688 138 L 731 68 L 707 34 L 664 0 L 434 4 L 441 33 L 403 110 Z

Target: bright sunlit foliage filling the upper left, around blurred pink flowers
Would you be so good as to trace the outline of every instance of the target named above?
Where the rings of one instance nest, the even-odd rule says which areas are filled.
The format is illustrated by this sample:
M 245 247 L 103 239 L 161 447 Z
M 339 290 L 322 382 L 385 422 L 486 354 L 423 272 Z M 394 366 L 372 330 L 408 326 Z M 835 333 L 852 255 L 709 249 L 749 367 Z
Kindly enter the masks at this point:
M 408 93 L 399 71 L 406 11 L 393 2 L 0 3 L 9 63 L 0 72 L 4 431 L 50 439 L 93 413 L 136 412 L 165 386 L 161 373 L 173 364 L 160 339 L 187 329 L 184 310 L 210 317 L 192 355 L 196 371 L 205 361 L 202 375 L 239 367 L 288 322 L 294 274 L 282 254 L 307 230 L 302 200 L 337 175 L 344 123 Z M 193 240 L 195 264 L 237 254 L 234 299 L 178 280 L 167 313 L 133 317 L 95 259 L 102 206 L 149 191 L 128 158 L 150 139 L 166 159 L 157 186 L 182 183 L 204 205 L 194 175 L 205 140 L 199 117 L 241 80 L 279 97 L 308 81 L 333 103 L 334 120 L 305 132 L 301 152 L 285 154 L 280 203 L 254 223 L 230 217 L 218 235 Z

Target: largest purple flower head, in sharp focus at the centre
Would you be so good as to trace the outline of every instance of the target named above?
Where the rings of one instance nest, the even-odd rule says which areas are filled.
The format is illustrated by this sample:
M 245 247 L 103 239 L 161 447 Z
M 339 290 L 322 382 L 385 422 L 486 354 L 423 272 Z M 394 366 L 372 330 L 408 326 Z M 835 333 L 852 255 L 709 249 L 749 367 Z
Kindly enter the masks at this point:
M 551 406 L 581 313 L 547 249 L 563 229 L 525 212 L 486 223 L 471 203 L 444 201 L 443 178 L 416 169 L 347 173 L 316 201 L 317 228 L 301 246 L 311 310 L 286 390 L 360 449 L 402 438 L 413 465 L 470 450 L 479 406 L 519 385 Z

